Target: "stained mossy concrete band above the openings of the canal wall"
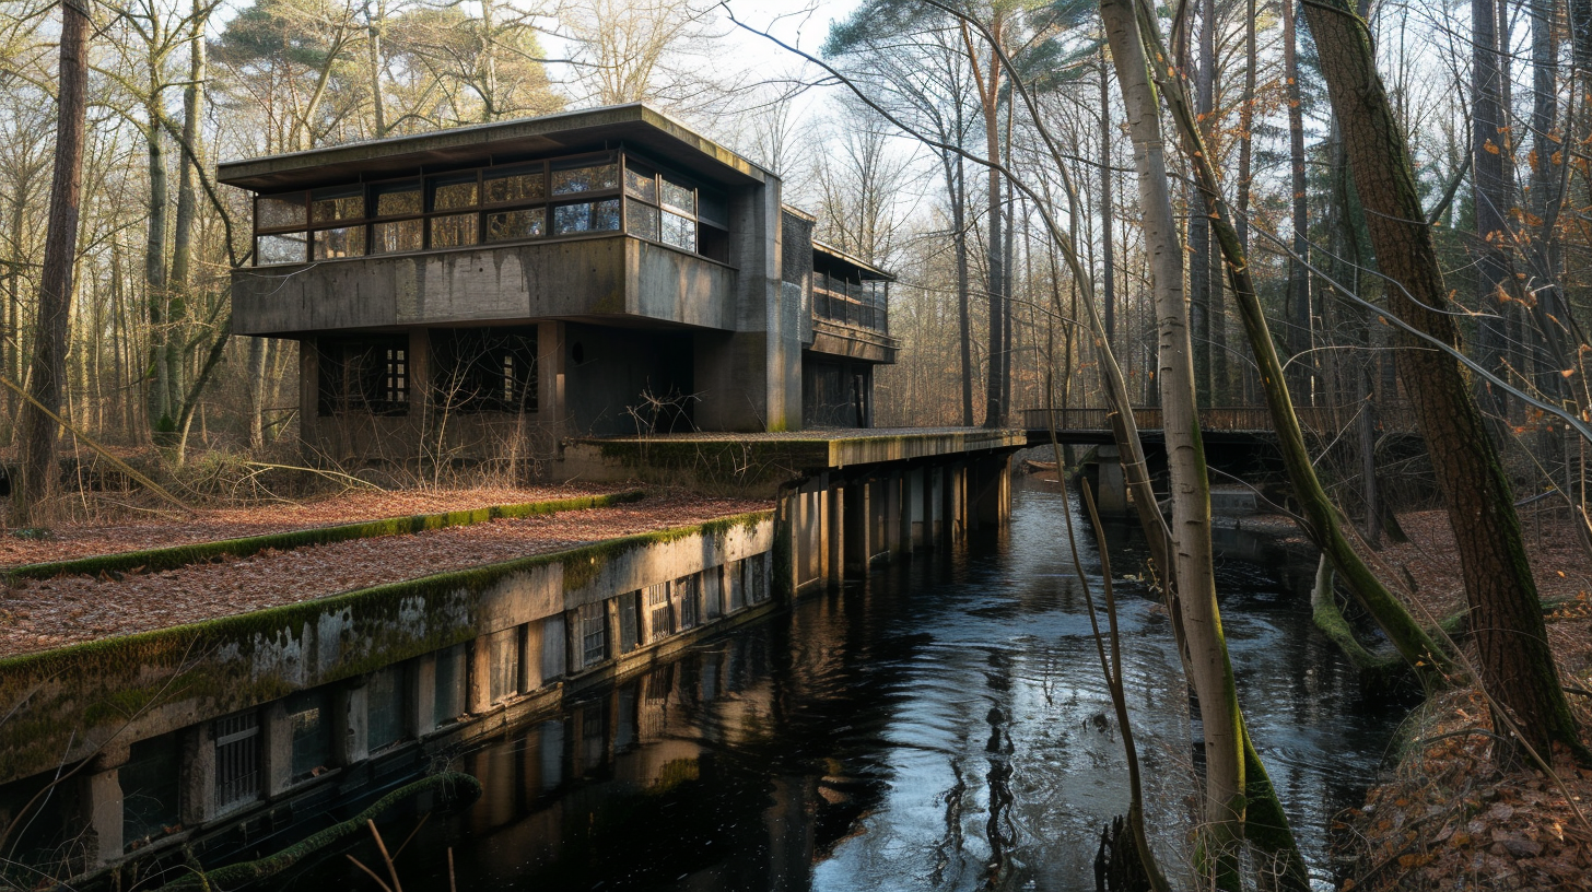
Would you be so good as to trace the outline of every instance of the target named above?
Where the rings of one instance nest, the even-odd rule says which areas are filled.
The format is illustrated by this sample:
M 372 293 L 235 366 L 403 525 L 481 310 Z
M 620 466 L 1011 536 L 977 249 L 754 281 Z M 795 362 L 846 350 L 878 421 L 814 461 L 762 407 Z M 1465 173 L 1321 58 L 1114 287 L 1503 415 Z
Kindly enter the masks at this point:
M 0 661 L 0 784 L 774 546 L 772 513 Z

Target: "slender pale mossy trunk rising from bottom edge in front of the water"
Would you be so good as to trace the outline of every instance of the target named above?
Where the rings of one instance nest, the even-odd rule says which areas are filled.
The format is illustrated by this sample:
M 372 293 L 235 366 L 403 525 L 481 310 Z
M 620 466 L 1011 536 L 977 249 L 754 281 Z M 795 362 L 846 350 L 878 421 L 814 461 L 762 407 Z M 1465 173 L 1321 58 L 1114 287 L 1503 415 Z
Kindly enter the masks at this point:
M 1189 680 L 1205 734 L 1205 833 L 1210 878 L 1237 889 L 1237 846 L 1243 836 L 1245 758 L 1232 664 L 1221 632 L 1210 540 L 1210 481 L 1194 406 L 1194 355 L 1183 299 L 1183 247 L 1167 186 L 1161 108 L 1134 8 L 1105 0 L 1100 13 L 1116 61 L 1138 172 L 1140 221 L 1151 258 L 1151 287 L 1161 331 L 1161 411 L 1172 473 L 1172 562 L 1183 613 Z

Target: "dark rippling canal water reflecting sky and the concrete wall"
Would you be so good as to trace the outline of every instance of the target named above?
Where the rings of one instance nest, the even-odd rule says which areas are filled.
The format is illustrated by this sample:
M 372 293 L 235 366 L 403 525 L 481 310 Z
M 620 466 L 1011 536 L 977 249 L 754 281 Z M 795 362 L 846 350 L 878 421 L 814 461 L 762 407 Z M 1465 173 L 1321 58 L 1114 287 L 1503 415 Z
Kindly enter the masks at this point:
M 1000 540 L 809 597 L 457 753 L 486 793 L 416 831 L 403 887 L 447 889 L 452 847 L 471 890 L 1094 889 L 1126 769 L 1063 508 L 1022 492 Z M 1108 538 L 1118 572 L 1134 569 L 1130 532 Z M 1326 886 L 1326 827 L 1360 804 L 1403 709 L 1363 696 L 1312 628 L 1299 586 L 1313 565 L 1227 545 L 1223 620 L 1250 728 Z M 1118 599 L 1151 825 L 1175 860 L 1191 828 L 1186 688 L 1159 608 L 1132 581 Z M 390 819 L 388 844 L 416 824 Z M 345 854 L 379 863 L 358 843 L 274 886 L 374 889 Z

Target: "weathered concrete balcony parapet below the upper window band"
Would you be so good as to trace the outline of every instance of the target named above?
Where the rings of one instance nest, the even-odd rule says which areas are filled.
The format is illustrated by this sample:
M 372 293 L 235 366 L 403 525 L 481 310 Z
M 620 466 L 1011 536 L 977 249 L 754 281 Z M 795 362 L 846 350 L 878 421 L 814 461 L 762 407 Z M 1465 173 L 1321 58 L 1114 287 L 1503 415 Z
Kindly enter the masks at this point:
M 232 330 L 295 336 L 565 319 L 734 331 L 734 295 L 731 266 L 632 236 L 587 236 L 234 269 Z

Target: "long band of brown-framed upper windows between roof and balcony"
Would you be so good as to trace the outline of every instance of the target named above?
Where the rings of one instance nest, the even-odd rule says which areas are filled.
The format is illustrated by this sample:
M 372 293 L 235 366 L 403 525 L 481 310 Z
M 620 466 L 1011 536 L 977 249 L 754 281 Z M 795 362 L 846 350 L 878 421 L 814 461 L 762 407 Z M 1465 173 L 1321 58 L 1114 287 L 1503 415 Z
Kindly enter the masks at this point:
M 726 261 L 723 196 L 610 151 L 255 199 L 255 264 L 627 231 Z

